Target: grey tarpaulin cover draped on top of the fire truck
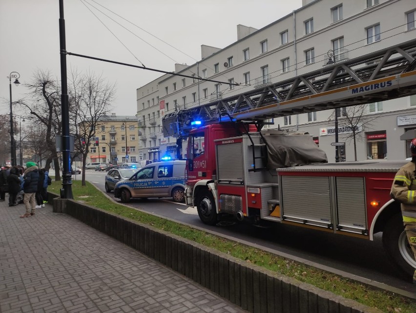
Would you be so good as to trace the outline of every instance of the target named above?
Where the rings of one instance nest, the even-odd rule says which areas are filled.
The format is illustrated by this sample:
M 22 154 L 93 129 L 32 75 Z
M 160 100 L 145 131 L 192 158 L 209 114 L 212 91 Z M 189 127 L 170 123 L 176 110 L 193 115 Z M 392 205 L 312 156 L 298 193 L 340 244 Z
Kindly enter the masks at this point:
M 327 163 L 325 152 L 309 134 L 267 134 L 267 168 L 291 167 L 312 163 Z

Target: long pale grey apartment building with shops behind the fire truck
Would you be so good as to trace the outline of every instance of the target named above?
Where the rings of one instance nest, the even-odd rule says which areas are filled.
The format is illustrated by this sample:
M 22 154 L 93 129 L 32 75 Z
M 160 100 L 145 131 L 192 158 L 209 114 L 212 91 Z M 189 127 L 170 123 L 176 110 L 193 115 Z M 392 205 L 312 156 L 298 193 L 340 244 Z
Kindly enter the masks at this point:
M 168 112 L 264 87 L 413 40 L 415 20 L 414 0 L 304 0 L 301 8 L 259 30 L 238 25 L 236 42 L 223 49 L 203 45 L 201 61 L 190 66 L 176 65 L 176 73 L 192 78 L 166 74 L 137 89 L 139 125 L 146 125 L 149 134 L 149 138 L 141 138 L 139 150 L 146 158 L 173 155 L 176 142 L 174 138 L 164 138 L 160 127 L 161 118 Z M 369 103 L 365 108 L 362 114 L 372 122 L 358 127 L 357 159 L 408 156 L 400 135 L 416 128 L 415 96 Z M 279 117 L 268 127 L 309 132 L 327 152 L 329 161 L 334 161 L 333 112 Z M 347 111 L 341 109 L 340 113 L 342 125 Z M 354 160 L 354 144 L 348 136 L 342 129 L 339 131 L 339 141 L 346 141 L 346 160 Z M 200 145 L 199 149 L 203 149 L 204 142 Z

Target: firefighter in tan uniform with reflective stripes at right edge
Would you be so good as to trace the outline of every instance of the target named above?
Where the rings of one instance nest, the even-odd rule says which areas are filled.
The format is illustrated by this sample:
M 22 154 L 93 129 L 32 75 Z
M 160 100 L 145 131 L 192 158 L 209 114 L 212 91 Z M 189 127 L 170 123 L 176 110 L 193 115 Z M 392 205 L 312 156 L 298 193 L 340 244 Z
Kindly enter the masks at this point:
M 401 203 L 401 214 L 407 240 L 416 259 L 416 138 L 410 143 L 412 161 L 398 170 L 393 181 L 390 195 Z M 413 274 L 416 284 L 416 270 Z

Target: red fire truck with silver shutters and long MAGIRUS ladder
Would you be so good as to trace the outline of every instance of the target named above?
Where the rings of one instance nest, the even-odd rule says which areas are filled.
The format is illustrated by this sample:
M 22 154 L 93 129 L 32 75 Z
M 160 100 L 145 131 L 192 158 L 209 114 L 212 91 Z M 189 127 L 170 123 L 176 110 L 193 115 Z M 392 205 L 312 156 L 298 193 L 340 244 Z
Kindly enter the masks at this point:
M 181 139 L 188 140 L 187 204 L 197 207 L 206 224 L 228 215 L 238 221 L 292 224 L 367 240 L 382 232 L 391 259 L 412 272 L 416 261 L 400 205 L 390 197 L 395 173 L 406 161 L 328 164 L 309 134 L 262 128 L 277 116 L 415 94 L 415 49 L 416 41 L 404 43 L 166 114 L 163 133 L 178 138 L 178 158 Z M 369 65 L 376 57 L 382 61 Z

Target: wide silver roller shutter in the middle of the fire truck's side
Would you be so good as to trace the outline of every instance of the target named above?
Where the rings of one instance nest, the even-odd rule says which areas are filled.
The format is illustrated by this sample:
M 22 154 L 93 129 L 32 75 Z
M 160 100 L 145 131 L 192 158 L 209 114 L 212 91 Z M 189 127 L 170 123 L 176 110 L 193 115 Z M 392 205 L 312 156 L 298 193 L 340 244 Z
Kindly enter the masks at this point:
M 284 221 L 332 228 L 329 177 L 281 177 Z

